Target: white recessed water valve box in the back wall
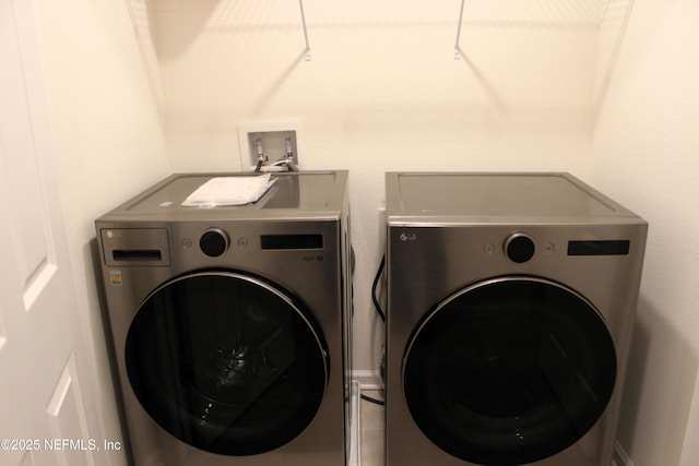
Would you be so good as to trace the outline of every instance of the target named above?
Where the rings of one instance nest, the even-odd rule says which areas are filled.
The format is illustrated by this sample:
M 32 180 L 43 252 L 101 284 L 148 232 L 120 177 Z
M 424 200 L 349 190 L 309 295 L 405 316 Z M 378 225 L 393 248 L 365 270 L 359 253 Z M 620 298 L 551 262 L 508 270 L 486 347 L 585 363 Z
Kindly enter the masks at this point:
M 287 170 L 284 163 L 287 158 L 287 139 L 291 142 L 294 163 L 300 168 L 299 155 L 304 154 L 303 132 L 303 124 L 298 121 L 240 123 L 238 141 L 242 171 L 254 171 L 260 152 L 264 158 L 261 171 Z

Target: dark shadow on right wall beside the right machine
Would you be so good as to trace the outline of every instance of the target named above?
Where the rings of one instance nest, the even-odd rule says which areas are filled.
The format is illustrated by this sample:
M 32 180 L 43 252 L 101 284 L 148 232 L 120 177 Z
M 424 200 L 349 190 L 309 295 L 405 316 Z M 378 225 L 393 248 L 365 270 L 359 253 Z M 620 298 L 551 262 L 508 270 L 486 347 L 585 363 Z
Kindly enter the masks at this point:
M 617 429 L 636 466 L 680 464 L 698 363 L 690 343 L 641 295 Z

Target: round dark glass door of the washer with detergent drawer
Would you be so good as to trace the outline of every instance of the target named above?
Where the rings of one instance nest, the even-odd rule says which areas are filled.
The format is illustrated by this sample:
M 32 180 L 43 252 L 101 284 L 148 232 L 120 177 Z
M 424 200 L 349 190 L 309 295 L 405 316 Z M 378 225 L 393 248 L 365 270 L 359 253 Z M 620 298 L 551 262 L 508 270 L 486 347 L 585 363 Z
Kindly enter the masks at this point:
M 304 431 L 329 370 L 310 315 L 281 289 L 233 272 L 190 274 L 152 292 L 125 356 L 135 396 L 164 430 L 230 456 Z

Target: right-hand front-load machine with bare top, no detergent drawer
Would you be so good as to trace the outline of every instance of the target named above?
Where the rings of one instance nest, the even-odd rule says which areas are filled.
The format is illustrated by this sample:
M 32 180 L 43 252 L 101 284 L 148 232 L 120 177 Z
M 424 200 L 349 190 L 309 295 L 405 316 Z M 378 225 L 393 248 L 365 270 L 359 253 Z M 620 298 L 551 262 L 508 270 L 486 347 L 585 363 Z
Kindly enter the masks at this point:
M 647 223 L 568 174 L 386 183 L 387 464 L 608 466 Z

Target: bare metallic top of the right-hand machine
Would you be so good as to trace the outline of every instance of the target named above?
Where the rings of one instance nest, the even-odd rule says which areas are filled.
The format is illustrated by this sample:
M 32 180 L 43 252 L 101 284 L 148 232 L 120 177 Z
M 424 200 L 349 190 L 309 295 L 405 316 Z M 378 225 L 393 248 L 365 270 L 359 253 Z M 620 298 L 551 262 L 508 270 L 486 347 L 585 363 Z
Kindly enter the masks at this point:
M 389 172 L 389 223 L 639 222 L 569 174 Z

